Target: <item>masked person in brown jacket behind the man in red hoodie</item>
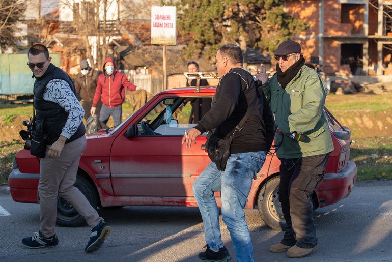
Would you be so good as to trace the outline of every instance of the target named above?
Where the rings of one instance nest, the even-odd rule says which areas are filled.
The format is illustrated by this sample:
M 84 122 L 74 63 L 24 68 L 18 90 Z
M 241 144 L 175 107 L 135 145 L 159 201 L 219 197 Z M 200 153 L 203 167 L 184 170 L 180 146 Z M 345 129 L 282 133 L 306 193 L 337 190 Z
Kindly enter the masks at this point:
M 87 120 L 91 115 L 90 109 L 93 105 L 95 89 L 97 88 L 98 76 L 100 74 L 102 74 L 102 72 L 92 69 L 89 66 L 89 62 L 86 60 L 82 60 L 80 62 L 80 73 L 78 73 L 75 77 L 75 89 L 79 101 L 82 104 L 83 109 L 85 109 L 85 120 Z M 99 101 L 96 107 L 97 109 L 95 110 L 95 114 L 99 117 L 102 102 Z

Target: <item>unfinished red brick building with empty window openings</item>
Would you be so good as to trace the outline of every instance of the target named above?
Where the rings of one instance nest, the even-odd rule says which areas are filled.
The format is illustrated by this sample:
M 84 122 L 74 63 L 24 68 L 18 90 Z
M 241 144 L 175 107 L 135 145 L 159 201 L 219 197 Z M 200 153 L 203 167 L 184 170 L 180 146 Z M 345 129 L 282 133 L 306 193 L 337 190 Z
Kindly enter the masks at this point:
M 392 74 L 392 1 L 284 0 L 310 28 L 293 40 L 327 75 Z

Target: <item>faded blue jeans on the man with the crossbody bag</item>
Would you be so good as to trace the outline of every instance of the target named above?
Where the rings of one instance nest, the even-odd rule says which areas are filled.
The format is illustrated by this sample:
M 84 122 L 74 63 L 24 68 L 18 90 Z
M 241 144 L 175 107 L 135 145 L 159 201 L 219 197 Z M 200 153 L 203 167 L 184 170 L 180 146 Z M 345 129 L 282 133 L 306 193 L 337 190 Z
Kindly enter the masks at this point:
M 223 247 L 219 228 L 219 209 L 214 192 L 221 191 L 222 220 L 232 238 L 237 261 L 253 261 L 253 248 L 244 207 L 252 179 L 265 162 L 265 151 L 231 154 L 225 171 L 214 162 L 194 181 L 192 190 L 202 214 L 205 239 L 212 249 Z

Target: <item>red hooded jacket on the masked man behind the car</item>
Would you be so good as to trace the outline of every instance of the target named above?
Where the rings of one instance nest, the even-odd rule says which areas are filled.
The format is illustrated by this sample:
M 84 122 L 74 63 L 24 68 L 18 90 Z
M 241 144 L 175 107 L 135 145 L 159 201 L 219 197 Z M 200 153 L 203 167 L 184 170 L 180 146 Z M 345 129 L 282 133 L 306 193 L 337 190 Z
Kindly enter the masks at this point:
M 113 73 L 108 75 L 105 71 L 105 64 L 107 62 L 113 63 Z M 136 90 L 136 85 L 130 83 L 125 74 L 116 71 L 116 64 L 113 59 L 107 58 L 103 63 L 102 72 L 98 77 L 97 89 L 95 90 L 93 107 L 96 107 L 99 99 L 102 104 L 113 108 L 121 105 L 124 102 L 125 89 L 130 91 Z

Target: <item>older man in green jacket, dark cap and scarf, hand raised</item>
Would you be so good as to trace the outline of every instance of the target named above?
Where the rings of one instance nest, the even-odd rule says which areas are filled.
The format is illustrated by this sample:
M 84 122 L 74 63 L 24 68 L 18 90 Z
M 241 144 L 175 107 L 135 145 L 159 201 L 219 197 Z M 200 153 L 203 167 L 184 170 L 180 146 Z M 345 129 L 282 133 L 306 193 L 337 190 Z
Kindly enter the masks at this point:
M 303 257 L 317 249 L 312 194 L 321 183 L 333 143 L 323 111 L 327 90 L 319 75 L 305 65 L 299 43 L 282 42 L 274 56 L 276 74 L 268 80 L 265 66 L 255 68 L 277 125 L 275 144 L 280 165 L 279 201 L 286 220 L 281 242 L 271 252 Z

